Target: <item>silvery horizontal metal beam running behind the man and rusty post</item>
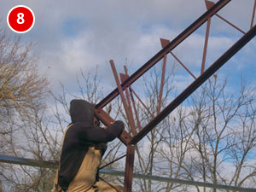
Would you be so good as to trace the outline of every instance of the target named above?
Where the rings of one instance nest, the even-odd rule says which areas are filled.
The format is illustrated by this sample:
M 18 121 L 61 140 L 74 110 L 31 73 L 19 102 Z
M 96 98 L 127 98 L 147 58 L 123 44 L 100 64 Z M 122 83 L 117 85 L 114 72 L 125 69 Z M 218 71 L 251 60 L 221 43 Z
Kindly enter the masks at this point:
M 16 164 L 20 166 L 39 166 L 39 167 L 45 167 L 45 168 L 57 168 L 58 166 L 58 162 L 56 161 L 32 160 L 32 159 L 26 159 L 26 158 L 20 158 L 20 157 L 7 156 L 3 154 L 0 154 L 0 162 Z M 113 176 L 120 176 L 120 177 L 125 176 L 125 172 L 108 170 L 108 169 L 102 169 L 100 170 L 100 173 L 113 175 Z M 151 181 L 187 184 L 192 186 L 207 187 L 207 188 L 214 188 L 214 189 L 256 192 L 256 189 L 241 188 L 241 187 L 228 186 L 223 184 L 196 182 L 196 181 L 189 181 L 189 180 L 170 178 L 170 177 L 150 176 L 150 175 L 143 175 L 143 174 L 137 174 L 137 173 L 133 173 L 133 177 L 139 178 L 139 179 L 148 179 Z

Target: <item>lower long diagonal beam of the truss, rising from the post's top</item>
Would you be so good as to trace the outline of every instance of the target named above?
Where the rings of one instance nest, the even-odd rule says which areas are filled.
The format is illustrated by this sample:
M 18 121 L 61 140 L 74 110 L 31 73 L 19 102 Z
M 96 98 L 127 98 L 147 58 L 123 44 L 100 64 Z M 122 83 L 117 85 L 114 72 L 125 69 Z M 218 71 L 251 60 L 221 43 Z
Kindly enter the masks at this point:
M 245 44 L 247 44 L 256 35 L 256 26 L 253 26 L 247 34 L 242 36 L 236 44 L 234 44 L 230 49 L 228 49 L 224 55 L 220 56 L 217 61 L 215 61 L 211 67 L 201 74 L 201 76 L 196 79 L 192 84 L 188 86 L 186 90 L 177 96 L 159 115 L 157 115 L 148 125 L 146 125 L 142 131 L 140 131 L 137 136 L 131 139 L 131 144 L 138 143 L 144 136 L 151 131 L 154 126 L 158 125 L 161 120 L 165 119 L 166 116 L 171 113 L 177 106 L 182 103 L 186 98 L 188 98 L 198 87 L 201 86 L 207 79 L 209 79 L 213 73 L 215 73 L 220 67 L 224 65 L 226 61 L 235 55 Z

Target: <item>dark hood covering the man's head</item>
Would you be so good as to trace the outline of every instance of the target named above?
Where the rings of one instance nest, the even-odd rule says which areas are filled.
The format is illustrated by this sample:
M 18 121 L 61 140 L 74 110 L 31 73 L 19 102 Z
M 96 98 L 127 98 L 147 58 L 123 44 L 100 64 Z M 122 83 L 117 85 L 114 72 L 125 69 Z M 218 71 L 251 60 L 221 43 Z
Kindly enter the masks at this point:
M 70 102 L 70 116 L 72 123 L 83 122 L 93 125 L 95 105 L 84 100 L 74 99 Z

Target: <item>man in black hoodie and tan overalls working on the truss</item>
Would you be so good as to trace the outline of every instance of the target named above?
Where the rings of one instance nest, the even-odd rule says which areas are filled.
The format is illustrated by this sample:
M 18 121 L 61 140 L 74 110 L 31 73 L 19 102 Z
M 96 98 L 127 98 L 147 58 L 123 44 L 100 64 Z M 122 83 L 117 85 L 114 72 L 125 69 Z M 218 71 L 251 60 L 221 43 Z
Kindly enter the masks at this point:
M 52 191 L 116 191 L 107 183 L 96 182 L 97 169 L 107 144 L 119 137 L 124 124 L 115 121 L 108 129 L 102 129 L 96 120 L 95 105 L 84 100 L 70 102 L 72 123 L 62 139 L 61 160 Z M 118 185 L 115 188 L 122 191 Z

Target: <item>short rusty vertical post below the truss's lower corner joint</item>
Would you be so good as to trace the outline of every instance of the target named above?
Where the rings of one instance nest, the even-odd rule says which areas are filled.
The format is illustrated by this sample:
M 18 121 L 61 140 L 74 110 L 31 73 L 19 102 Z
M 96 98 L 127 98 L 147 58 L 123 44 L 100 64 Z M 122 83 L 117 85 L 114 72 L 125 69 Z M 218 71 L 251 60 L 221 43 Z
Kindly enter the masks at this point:
M 131 192 L 132 189 L 132 176 L 133 176 L 133 164 L 134 164 L 135 146 L 128 145 L 126 151 L 125 161 L 125 192 Z

